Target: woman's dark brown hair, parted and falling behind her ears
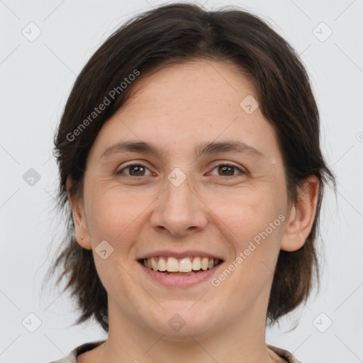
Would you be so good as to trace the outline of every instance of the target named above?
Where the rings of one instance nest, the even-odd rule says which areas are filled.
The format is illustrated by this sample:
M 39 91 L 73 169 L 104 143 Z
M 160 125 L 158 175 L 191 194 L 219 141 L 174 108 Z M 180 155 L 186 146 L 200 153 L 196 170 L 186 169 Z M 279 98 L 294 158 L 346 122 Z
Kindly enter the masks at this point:
M 96 50 L 74 83 L 55 135 L 60 172 L 57 198 L 60 211 L 67 215 L 68 233 L 52 268 L 60 269 L 57 284 L 66 278 L 65 290 L 77 301 L 81 311 L 77 324 L 95 318 L 108 331 L 107 294 L 91 250 L 80 247 L 74 237 L 66 179 L 72 178 L 72 196 L 82 198 L 89 149 L 132 89 L 132 84 L 120 86 L 125 77 L 136 72 L 143 77 L 158 65 L 201 58 L 232 62 L 252 80 L 261 111 L 277 133 L 289 201 L 297 201 L 297 186 L 306 177 L 313 174 L 320 180 L 317 211 L 306 243 L 295 252 L 279 252 L 267 311 L 269 323 L 306 301 L 314 272 L 318 281 L 314 242 L 323 187 L 328 179 L 335 187 L 336 183 L 320 151 L 318 108 L 298 55 L 267 23 L 247 11 L 206 11 L 194 4 L 169 4 L 130 19 Z M 110 92 L 115 89 L 117 96 L 112 98 Z M 89 116 L 106 98 L 108 106 L 91 122 Z M 90 122 L 80 129 L 86 119 Z

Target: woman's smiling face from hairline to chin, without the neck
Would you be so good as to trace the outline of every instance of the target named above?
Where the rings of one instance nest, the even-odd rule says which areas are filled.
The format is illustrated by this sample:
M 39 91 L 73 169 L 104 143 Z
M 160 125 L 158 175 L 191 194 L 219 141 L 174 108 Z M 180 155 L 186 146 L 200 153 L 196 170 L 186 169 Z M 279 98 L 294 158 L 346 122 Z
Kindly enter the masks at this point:
M 183 339 L 264 324 L 290 210 L 255 90 L 232 65 L 203 60 L 133 86 L 91 147 L 76 216 L 77 240 L 93 250 L 108 293 L 110 327 L 118 320 Z M 154 271 L 165 268 L 186 272 Z

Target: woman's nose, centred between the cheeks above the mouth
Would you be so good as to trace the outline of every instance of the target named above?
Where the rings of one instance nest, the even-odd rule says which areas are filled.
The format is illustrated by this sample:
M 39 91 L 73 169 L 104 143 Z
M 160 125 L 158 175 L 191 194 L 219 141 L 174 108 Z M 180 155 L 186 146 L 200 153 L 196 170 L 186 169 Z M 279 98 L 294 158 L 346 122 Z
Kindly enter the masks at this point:
M 201 197 L 192 188 L 187 177 L 179 186 L 167 180 L 166 187 L 155 201 L 157 205 L 152 213 L 152 228 L 169 231 L 174 236 L 196 233 L 206 228 L 208 208 Z

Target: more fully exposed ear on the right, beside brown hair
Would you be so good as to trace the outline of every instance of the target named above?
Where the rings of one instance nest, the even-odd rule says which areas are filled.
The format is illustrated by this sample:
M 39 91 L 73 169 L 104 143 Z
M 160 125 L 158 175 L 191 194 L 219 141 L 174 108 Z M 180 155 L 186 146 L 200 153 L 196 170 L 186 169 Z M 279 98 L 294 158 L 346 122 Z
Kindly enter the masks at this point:
M 311 175 L 298 190 L 298 201 L 291 207 L 280 248 L 284 251 L 296 251 L 303 247 L 311 232 L 318 204 L 319 179 Z

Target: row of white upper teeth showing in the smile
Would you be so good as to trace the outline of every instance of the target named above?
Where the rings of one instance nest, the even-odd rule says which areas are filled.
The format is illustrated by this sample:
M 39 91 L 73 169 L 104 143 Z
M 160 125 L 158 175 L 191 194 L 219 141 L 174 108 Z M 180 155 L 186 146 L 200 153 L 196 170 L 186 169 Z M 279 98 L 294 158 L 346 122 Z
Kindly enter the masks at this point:
M 145 267 L 160 272 L 190 272 L 202 269 L 213 269 L 219 263 L 219 259 L 208 259 L 208 257 L 185 257 L 176 259 L 175 257 L 151 257 L 143 259 Z

